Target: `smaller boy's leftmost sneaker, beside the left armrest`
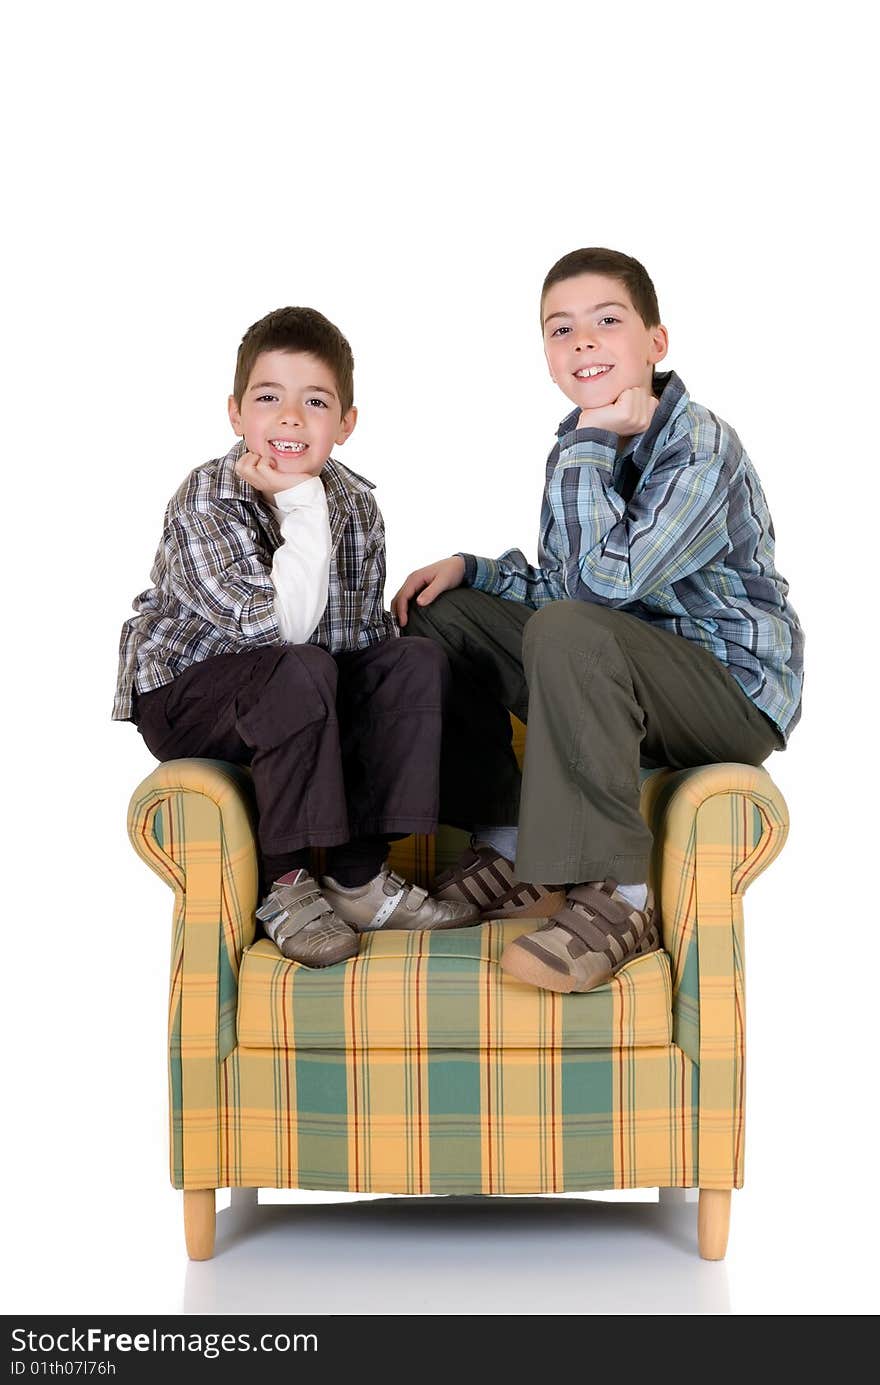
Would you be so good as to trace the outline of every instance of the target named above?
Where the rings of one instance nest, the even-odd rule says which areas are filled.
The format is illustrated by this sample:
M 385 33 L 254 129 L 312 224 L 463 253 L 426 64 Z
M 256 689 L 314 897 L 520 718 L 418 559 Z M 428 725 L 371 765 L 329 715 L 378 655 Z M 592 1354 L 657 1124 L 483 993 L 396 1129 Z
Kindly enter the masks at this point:
M 305 870 L 276 879 L 256 917 L 279 951 L 303 967 L 333 967 L 360 947 L 358 933 L 334 914 Z

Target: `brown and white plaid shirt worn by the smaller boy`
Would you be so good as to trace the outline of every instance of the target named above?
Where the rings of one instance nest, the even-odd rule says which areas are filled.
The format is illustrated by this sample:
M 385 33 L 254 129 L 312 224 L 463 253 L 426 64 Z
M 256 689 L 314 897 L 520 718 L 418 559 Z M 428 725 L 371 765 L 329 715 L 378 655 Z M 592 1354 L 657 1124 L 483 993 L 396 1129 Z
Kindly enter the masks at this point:
M 173 496 L 152 572 L 122 626 L 114 720 L 132 694 L 170 683 L 191 663 L 255 644 L 283 644 L 272 555 L 281 530 L 263 496 L 236 474 L 238 442 L 197 467 Z M 322 471 L 330 519 L 327 607 L 309 638 L 331 654 L 398 634 L 382 604 L 385 532 L 373 483 L 330 457 Z

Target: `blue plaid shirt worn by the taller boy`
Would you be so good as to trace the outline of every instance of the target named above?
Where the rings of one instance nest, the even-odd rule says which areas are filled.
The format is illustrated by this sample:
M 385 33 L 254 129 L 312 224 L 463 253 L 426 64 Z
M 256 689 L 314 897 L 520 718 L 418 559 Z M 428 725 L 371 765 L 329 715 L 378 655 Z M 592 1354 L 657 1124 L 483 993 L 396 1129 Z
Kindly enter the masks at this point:
M 534 608 L 597 601 L 710 650 L 783 740 L 801 712 L 804 636 L 755 470 L 729 424 L 658 373 L 646 432 L 558 427 L 547 457 L 538 566 L 518 548 L 464 558 L 464 582 Z

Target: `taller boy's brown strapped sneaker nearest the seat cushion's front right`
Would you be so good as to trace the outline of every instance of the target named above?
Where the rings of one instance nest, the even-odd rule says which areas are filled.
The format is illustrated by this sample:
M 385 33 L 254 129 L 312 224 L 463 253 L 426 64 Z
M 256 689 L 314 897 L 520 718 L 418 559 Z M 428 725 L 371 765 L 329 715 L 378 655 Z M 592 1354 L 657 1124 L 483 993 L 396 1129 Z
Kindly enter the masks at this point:
M 545 990 L 593 990 L 633 957 L 658 949 L 651 891 L 644 909 L 633 909 L 617 893 L 617 881 L 592 881 L 570 889 L 565 907 L 538 932 L 507 943 L 502 970 Z

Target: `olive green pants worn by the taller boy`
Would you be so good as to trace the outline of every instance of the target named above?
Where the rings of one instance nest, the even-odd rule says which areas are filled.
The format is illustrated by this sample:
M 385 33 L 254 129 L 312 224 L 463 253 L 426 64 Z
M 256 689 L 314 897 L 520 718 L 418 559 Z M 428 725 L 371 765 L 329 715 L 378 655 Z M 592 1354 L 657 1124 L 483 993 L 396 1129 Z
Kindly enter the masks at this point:
M 625 611 L 532 611 L 459 587 L 410 602 L 405 634 L 435 640 L 452 668 L 441 820 L 467 831 L 518 823 L 524 881 L 646 881 L 642 766 L 761 765 L 783 748 L 712 654 Z M 528 723 L 522 776 L 507 712 Z

